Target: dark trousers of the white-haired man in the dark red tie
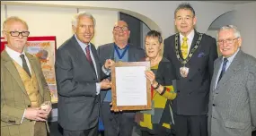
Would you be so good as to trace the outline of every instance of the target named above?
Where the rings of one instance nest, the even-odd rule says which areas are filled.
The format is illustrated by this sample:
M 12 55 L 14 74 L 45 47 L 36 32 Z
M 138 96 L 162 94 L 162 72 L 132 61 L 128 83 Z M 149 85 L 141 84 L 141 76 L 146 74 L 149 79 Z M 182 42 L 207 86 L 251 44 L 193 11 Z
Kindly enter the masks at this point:
M 67 131 L 63 130 L 63 136 L 98 136 L 98 124 L 90 130 Z

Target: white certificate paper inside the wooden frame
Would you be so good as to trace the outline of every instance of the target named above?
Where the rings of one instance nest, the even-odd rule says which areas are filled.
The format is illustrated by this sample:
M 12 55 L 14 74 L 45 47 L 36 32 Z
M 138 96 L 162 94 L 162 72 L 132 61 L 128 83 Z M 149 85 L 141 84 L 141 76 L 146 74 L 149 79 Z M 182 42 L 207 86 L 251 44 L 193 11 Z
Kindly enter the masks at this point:
M 117 106 L 145 106 L 146 67 L 116 67 Z

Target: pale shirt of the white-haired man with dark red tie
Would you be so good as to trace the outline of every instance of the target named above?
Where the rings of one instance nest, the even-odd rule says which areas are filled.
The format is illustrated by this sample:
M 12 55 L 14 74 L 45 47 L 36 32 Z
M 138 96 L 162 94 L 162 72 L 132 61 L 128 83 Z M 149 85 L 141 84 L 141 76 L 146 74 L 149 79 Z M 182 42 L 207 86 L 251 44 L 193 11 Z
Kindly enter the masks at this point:
M 86 51 L 85 51 L 85 47 L 87 47 L 88 45 L 91 45 L 90 43 L 88 45 L 84 44 L 82 41 L 80 41 L 76 35 L 75 35 L 75 39 L 76 41 L 78 42 L 78 45 L 83 49 L 84 51 L 84 54 L 86 55 Z M 96 75 L 97 75 L 97 78 L 98 78 L 98 72 L 97 72 L 97 65 L 95 64 L 95 60 L 94 60 L 94 57 L 93 57 L 93 53 L 92 53 L 92 46 L 90 46 L 90 55 L 91 55 L 91 58 L 93 60 L 93 66 L 94 66 L 94 70 L 96 72 Z M 96 94 L 98 95 L 100 93 L 100 90 L 101 90 L 101 83 L 100 82 L 96 82 Z

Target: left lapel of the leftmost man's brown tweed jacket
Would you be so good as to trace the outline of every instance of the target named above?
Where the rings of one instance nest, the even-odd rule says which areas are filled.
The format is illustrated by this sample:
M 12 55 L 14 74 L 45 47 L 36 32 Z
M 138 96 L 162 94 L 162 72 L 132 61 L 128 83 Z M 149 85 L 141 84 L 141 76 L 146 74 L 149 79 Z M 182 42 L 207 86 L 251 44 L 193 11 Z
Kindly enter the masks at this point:
M 6 67 L 6 69 L 10 72 L 10 74 L 13 76 L 13 79 L 15 79 L 15 81 L 17 81 L 18 85 L 20 86 L 20 88 L 22 89 L 23 93 L 27 94 L 27 91 L 23 85 L 22 79 L 20 77 L 19 72 L 17 71 L 15 65 L 13 64 L 13 60 L 12 58 L 7 54 L 7 52 L 4 50 L 2 53 L 2 57 L 5 61 L 4 66 Z

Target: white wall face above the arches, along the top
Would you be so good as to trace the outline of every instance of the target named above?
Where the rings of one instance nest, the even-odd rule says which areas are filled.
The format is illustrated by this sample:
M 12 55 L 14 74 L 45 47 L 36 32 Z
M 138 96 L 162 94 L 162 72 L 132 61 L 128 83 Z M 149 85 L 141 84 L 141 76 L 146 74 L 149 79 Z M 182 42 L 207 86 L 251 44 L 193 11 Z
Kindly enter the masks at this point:
M 151 29 L 161 30 L 163 38 L 166 38 L 175 32 L 173 13 L 177 5 L 181 4 L 181 1 L 2 1 L 2 3 L 84 6 L 86 8 L 122 11 L 136 15 L 137 18 L 145 21 Z M 202 1 L 191 1 L 190 4 L 194 7 L 199 19 L 197 25 L 199 32 L 206 32 L 212 21 L 219 15 L 231 11 L 234 8 L 233 4 L 217 4 Z

